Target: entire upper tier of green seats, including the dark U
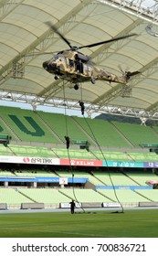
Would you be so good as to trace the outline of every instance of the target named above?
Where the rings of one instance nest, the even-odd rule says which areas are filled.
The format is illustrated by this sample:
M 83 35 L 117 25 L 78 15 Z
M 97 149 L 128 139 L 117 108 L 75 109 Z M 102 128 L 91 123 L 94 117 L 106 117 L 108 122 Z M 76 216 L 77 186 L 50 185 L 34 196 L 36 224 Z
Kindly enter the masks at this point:
M 98 143 L 100 146 L 122 150 L 140 148 L 140 144 L 144 143 L 155 144 L 158 137 L 151 127 L 140 124 L 110 123 L 100 119 L 66 117 L 63 114 L 11 107 L 1 107 L 0 122 L 3 122 L 0 133 L 10 134 L 12 141 L 63 144 L 64 136 L 68 133 L 71 140 L 87 140 L 93 146 Z

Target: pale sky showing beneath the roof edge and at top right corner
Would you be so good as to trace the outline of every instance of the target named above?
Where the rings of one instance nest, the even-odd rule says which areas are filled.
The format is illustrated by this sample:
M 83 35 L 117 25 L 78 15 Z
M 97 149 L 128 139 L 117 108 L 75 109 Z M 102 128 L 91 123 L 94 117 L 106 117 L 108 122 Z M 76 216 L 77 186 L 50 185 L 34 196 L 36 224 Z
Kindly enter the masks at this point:
M 132 0 L 129 0 L 132 1 Z M 142 0 L 133 0 L 134 3 L 141 3 Z M 143 0 L 142 1 L 142 5 L 147 6 L 147 7 L 153 7 L 153 5 L 155 5 L 156 0 Z M 157 5 L 158 5 L 158 0 L 157 0 Z M 30 104 L 26 104 L 26 103 L 17 103 L 14 101 L 0 101 L 0 106 L 11 106 L 11 107 L 19 107 L 22 109 L 29 109 L 32 110 L 32 106 Z M 65 108 L 54 108 L 54 107 L 47 107 L 47 106 L 37 106 L 37 111 L 43 111 L 43 112 L 58 112 L 58 113 L 65 113 L 67 111 L 67 115 L 75 115 L 75 116 L 81 116 L 80 111 L 72 111 L 72 110 L 66 110 Z M 91 118 L 96 117 L 97 115 L 99 115 L 100 113 L 92 113 L 91 114 Z M 85 116 L 87 117 L 87 113 L 85 111 Z

